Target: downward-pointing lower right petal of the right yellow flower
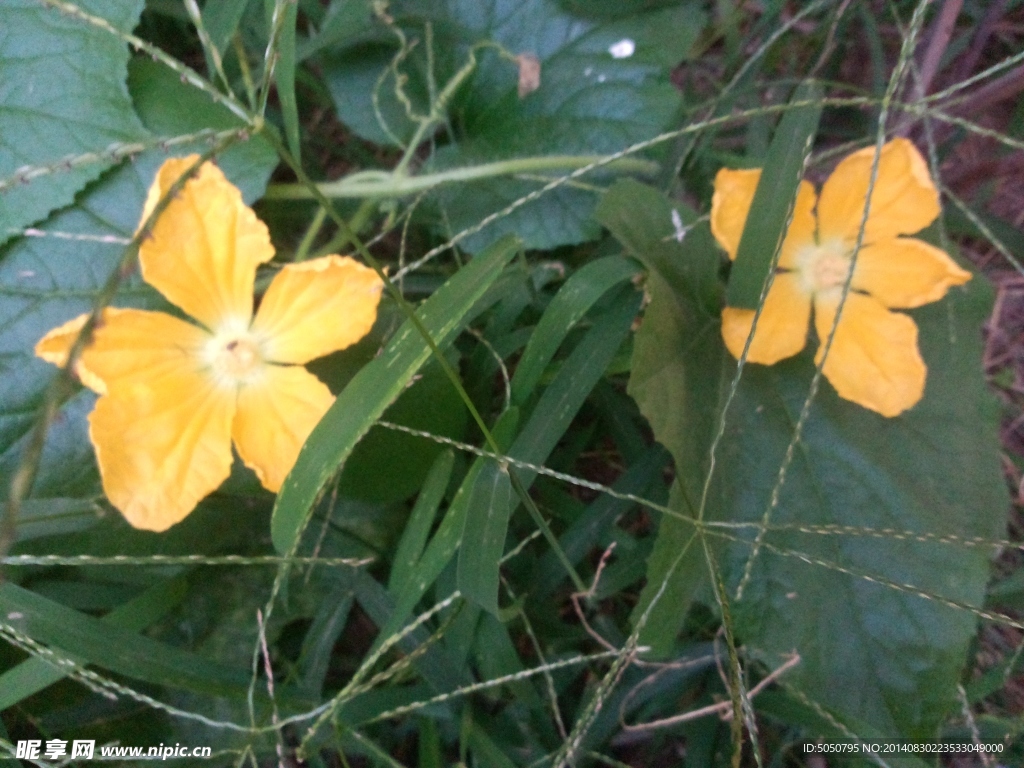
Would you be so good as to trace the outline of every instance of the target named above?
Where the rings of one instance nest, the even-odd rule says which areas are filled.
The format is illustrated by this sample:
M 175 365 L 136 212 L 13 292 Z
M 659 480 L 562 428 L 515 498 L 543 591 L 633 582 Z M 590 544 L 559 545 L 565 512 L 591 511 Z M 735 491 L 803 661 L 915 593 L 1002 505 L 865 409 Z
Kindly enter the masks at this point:
M 821 360 L 837 304 L 814 302 L 814 325 L 821 340 L 816 361 Z M 840 397 L 883 416 L 897 416 L 925 392 L 928 369 L 918 351 L 918 326 L 869 296 L 851 293 L 822 373 Z

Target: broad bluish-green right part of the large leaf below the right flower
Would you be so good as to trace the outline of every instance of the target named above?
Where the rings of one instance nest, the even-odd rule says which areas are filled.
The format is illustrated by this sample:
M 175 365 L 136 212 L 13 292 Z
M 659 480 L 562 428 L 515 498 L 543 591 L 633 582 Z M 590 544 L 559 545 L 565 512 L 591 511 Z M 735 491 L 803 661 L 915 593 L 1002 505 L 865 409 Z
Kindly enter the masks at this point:
M 791 684 L 886 735 L 929 738 L 957 711 L 956 684 L 977 618 L 941 600 L 983 605 L 989 552 L 855 529 L 964 539 L 996 539 L 1005 530 L 998 409 L 981 368 L 979 329 L 990 309 L 991 291 L 975 278 L 913 311 L 928 384 L 924 399 L 900 417 L 842 400 L 822 382 L 774 508 L 771 494 L 807 395 L 811 352 L 749 367 L 729 413 L 713 489 L 729 519 L 760 522 L 769 512 L 772 524 L 854 529 L 769 530 L 743 599 L 733 605 L 737 631 L 766 653 L 799 651 Z M 750 554 L 748 543 L 730 548 L 732 589 Z

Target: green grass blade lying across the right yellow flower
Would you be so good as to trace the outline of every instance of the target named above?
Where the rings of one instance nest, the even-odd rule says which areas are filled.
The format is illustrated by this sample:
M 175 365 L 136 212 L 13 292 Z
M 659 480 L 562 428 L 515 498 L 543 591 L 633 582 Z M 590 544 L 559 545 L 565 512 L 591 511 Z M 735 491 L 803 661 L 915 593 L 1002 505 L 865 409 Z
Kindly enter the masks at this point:
M 760 303 L 772 261 L 782 246 L 786 223 L 793 215 L 797 189 L 821 117 L 821 98 L 818 83 L 800 85 L 791 104 L 810 103 L 786 110 L 775 130 L 729 275 L 725 296 L 729 306 L 757 309 Z

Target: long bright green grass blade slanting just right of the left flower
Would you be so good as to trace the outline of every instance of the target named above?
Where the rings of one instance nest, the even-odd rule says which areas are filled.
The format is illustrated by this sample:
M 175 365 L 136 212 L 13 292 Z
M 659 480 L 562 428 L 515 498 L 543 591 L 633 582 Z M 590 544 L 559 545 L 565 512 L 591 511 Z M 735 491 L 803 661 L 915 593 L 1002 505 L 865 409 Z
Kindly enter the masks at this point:
M 519 248 L 503 238 L 460 269 L 417 313 L 434 343 L 443 348 L 470 321 L 470 310 Z M 287 553 L 298 544 L 321 489 L 355 444 L 429 359 L 430 347 L 406 321 L 380 356 L 349 382 L 321 420 L 285 479 L 273 508 L 274 547 Z

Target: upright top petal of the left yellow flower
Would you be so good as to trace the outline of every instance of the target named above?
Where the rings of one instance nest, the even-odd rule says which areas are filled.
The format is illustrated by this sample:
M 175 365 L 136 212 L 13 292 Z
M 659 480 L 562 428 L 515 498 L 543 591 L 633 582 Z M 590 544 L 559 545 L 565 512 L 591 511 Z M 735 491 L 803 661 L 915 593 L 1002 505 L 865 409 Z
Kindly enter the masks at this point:
M 142 220 L 196 159 L 161 166 Z M 256 267 L 271 258 L 266 225 L 212 163 L 185 183 L 139 248 L 145 282 L 213 331 L 225 323 L 249 324 Z

